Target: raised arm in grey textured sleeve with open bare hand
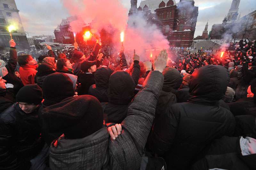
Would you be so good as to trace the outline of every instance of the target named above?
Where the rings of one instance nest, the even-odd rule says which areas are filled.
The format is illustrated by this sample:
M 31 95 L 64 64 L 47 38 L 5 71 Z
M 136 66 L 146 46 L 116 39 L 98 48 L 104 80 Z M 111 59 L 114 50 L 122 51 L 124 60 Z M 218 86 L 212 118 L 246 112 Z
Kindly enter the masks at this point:
M 138 169 L 141 164 L 141 157 L 148 138 L 152 122 L 155 117 L 156 103 L 163 87 L 164 76 L 162 74 L 166 66 L 166 50 L 156 60 L 154 70 L 148 74 L 141 90 L 134 97 L 132 104 L 127 111 L 127 117 L 122 122 L 122 134 L 115 140 L 123 148 L 126 162 L 120 165 L 127 169 Z M 128 148 L 128 149 L 127 149 Z M 133 148 L 133 149 L 129 149 Z M 112 146 L 111 146 L 111 149 Z M 117 155 L 117 162 L 122 162 L 123 156 Z

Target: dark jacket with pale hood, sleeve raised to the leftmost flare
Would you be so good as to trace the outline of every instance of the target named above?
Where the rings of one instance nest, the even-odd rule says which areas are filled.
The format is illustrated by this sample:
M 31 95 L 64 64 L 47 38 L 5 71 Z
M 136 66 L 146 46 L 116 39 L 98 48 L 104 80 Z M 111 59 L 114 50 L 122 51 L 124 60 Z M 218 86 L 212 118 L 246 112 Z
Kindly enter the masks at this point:
M 7 64 L 0 60 L 0 76 L 6 80 L 6 83 L 13 84 L 14 94 L 24 86 L 22 81 L 14 74 L 17 66 L 17 51 L 15 47 L 10 47 L 10 59 Z

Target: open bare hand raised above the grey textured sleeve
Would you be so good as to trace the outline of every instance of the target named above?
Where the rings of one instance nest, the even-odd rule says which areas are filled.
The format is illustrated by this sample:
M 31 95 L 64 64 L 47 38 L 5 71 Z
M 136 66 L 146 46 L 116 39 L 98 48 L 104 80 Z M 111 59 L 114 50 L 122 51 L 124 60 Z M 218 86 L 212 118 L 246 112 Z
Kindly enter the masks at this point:
M 162 73 L 164 71 L 164 68 L 166 67 L 167 59 L 168 54 L 166 50 L 162 50 L 159 53 L 159 56 L 155 59 L 155 62 L 153 64 L 154 70 Z

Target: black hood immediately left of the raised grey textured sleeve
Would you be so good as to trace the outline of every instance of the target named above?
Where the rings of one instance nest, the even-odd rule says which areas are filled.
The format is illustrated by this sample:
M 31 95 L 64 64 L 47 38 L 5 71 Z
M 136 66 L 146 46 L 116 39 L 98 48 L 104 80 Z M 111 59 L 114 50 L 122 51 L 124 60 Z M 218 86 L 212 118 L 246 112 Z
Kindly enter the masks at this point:
M 116 71 L 109 78 L 108 102 L 126 105 L 131 102 L 135 84 L 129 73 Z

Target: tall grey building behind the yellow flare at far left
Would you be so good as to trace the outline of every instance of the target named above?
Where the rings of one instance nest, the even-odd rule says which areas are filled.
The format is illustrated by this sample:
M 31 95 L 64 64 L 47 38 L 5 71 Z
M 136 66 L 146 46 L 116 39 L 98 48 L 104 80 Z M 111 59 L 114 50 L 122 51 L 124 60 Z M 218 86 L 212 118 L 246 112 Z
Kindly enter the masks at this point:
M 28 39 L 21 23 L 19 10 L 14 0 L 0 0 L 0 52 L 8 51 L 10 48 L 10 34 L 7 27 L 15 20 L 15 25 L 19 25 L 16 31 L 12 32 L 12 38 L 16 42 L 18 50 L 30 49 Z

